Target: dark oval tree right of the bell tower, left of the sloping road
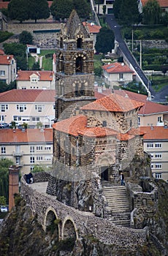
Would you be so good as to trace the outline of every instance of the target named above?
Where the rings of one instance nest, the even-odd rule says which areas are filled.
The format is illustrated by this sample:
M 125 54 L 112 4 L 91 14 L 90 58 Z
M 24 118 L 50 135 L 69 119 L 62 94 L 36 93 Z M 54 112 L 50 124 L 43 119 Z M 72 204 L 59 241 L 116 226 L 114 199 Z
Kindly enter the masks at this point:
M 115 36 L 111 29 L 103 27 L 96 38 L 96 52 L 107 53 L 114 48 Z

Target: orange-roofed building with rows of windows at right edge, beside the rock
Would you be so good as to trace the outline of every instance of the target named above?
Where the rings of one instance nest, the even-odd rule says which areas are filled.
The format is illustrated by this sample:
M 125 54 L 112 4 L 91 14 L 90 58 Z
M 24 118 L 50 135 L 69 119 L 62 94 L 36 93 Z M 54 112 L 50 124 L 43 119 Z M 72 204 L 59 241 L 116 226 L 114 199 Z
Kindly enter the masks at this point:
M 168 128 L 140 127 L 144 132 L 144 150 L 151 156 L 151 168 L 155 178 L 168 181 Z

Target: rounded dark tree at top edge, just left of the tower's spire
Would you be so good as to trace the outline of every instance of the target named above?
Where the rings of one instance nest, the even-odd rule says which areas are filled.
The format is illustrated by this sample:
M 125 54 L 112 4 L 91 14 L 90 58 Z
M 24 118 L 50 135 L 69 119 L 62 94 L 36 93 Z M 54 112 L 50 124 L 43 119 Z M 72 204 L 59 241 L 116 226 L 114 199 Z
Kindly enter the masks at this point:
M 69 18 L 74 8 L 73 0 L 53 0 L 50 11 L 56 20 L 60 18 Z

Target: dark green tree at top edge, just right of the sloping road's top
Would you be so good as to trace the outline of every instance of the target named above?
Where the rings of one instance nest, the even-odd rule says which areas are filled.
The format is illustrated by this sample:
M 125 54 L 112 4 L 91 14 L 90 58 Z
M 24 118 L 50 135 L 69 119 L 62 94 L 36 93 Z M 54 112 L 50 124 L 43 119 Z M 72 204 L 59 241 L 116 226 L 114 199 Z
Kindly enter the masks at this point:
M 139 23 L 140 12 L 138 10 L 137 0 L 115 0 L 114 15 L 118 19 L 118 23 L 126 26 Z

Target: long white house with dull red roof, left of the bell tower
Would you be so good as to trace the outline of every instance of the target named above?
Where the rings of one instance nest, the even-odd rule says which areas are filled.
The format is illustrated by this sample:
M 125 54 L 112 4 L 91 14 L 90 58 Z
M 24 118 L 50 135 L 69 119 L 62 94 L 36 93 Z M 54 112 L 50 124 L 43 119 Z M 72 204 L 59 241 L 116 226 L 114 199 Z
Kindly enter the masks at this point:
M 55 116 L 55 90 L 17 90 L 0 94 L 0 122 L 18 124 L 26 122 L 36 126 L 41 122 L 44 127 L 51 126 Z

